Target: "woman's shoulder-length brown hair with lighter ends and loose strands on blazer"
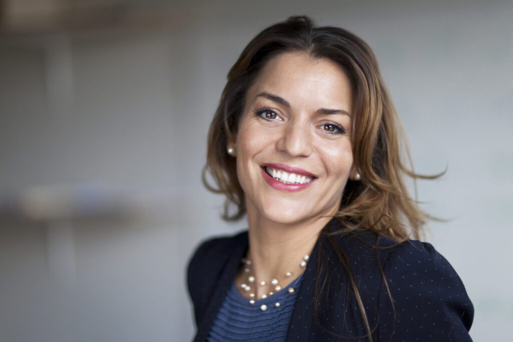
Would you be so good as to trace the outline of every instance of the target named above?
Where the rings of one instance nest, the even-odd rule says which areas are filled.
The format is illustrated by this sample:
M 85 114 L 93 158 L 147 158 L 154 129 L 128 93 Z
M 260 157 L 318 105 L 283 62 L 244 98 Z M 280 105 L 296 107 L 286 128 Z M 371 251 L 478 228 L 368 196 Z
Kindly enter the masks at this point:
M 207 163 L 202 179 L 210 191 L 226 195 L 223 219 L 238 220 L 244 216 L 244 192 L 237 178 L 235 159 L 226 153 L 227 143 L 238 130 L 246 91 L 263 66 L 274 56 L 292 51 L 303 51 L 313 59 L 328 59 L 337 63 L 351 82 L 351 139 L 354 163 L 361 180 L 348 180 L 344 188 L 340 208 L 335 215 L 343 229 L 336 232 L 323 230 L 321 234 L 333 246 L 349 275 L 367 329 L 365 336 L 372 341 L 365 308 L 351 275 L 348 258 L 333 237 L 355 230 L 368 230 L 376 233 L 378 237 L 386 236 L 398 243 L 407 240 L 411 235 L 415 239 L 421 239 L 424 237 L 423 226 L 426 221 L 440 219 L 420 210 L 417 200 L 408 195 L 403 177 L 406 175 L 413 179 L 417 198 L 417 179 L 436 179 L 446 170 L 433 176 L 414 172 L 404 130 L 381 78 L 376 57 L 363 40 L 342 28 L 315 27 L 307 16 L 291 16 L 255 36 L 228 72 L 228 82 L 210 125 Z M 404 140 L 404 146 L 400 146 L 400 138 Z M 403 164 L 401 151 L 406 153 L 411 170 Z M 216 187 L 209 185 L 207 172 L 212 175 Z M 230 205 L 233 204 L 236 212 L 230 214 Z M 319 252 L 321 253 L 321 249 Z M 326 262 L 322 258 L 319 260 Z M 381 264 L 379 267 L 383 274 Z M 321 267 L 318 270 L 320 272 Z M 319 283 L 320 278 L 317 277 L 316 289 L 328 289 L 326 281 L 329 281 L 329 277 L 324 277 L 323 284 Z M 384 274 L 383 278 L 390 296 Z M 317 310 L 319 296 L 316 294 L 316 297 Z

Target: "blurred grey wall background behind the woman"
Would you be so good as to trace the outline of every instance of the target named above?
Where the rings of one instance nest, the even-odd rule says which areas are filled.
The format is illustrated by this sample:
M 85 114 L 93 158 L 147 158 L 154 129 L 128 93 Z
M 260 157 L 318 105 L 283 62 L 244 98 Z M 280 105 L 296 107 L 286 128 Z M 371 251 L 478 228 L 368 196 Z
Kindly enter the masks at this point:
M 226 74 L 289 15 L 373 48 L 408 134 L 428 241 L 513 321 L 510 1 L 0 0 L 0 340 L 186 341 L 201 240 L 245 229 L 201 183 Z

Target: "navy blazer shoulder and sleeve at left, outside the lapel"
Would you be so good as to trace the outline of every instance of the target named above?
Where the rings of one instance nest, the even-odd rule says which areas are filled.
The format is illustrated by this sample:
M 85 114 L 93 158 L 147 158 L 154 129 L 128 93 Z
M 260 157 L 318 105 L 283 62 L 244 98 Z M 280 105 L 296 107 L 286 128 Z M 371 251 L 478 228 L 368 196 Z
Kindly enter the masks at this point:
M 247 244 L 247 234 L 247 231 L 242 231 L 211 237 L 201 241 L 193 250 L 187 262 L 187 289 L 195 308 L 196 322 L 232 252 Z

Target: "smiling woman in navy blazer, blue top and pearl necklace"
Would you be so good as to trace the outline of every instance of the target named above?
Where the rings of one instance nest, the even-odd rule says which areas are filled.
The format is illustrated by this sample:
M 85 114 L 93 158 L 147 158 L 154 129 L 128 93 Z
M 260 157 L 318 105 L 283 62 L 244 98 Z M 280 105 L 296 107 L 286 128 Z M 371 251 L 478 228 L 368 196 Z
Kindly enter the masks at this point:
M 433 217 L 403 181 L 441 175 L 403 165 L 398 125 L 354 34 L 295 16 L 247 45 L 203 179 L 226 195 L 223 218 L 247 214 L 249 228 L 202 243 L 189 262 L 195 341 L 471 340 L 472 303 L 418 241 Z

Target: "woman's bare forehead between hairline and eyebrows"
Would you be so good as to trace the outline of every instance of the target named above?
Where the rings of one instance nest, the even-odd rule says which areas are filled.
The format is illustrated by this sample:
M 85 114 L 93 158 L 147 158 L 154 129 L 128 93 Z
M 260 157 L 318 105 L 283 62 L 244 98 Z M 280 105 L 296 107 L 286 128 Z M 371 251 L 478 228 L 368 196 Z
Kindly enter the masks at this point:
M 285 52 L 269 60 L 248 89 L 247 101 L 261 91 L 278 94 L 292 106 L 351 109 L 351 86 L 342 68 L 305 52 Z

